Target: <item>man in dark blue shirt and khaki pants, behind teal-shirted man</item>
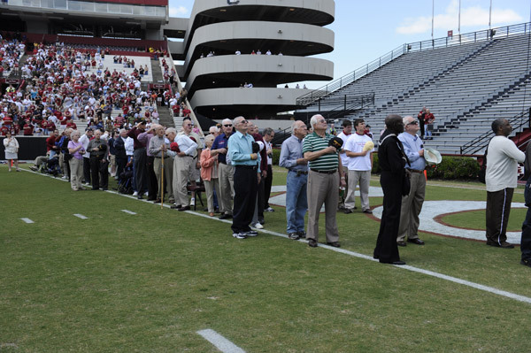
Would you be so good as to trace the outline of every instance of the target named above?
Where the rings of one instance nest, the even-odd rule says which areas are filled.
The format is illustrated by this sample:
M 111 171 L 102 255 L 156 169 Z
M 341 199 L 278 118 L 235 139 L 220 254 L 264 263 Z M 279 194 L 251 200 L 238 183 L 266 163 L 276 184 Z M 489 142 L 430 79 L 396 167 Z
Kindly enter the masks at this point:
M 211 156 L 218 156 L 219 169 L 219 200 L 221 201 L 219 211 L 221 216 L 219 219 L 232 219 L 232 205 L 231 199 L 235 193 L 234 174 L 235 169 L 233 165 L 227 164 L 227 150 L 228 138 L 233 133 L 233 123 L 231 119 L 223 119 L 221 122 L 223 134 L 212 143 Z

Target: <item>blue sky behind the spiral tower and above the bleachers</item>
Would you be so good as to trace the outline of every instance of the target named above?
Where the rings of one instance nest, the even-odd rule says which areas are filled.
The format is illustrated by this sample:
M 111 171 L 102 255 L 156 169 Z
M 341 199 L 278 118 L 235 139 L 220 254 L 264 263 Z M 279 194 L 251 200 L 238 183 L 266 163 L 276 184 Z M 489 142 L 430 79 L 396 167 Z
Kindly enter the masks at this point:
M 435 1 L 434 37 L 458 33 L 458 0 Z M 170 16 L 189 17 L 193 0 L 169 0 Z M 490 0 L 461 0 L 461 33 L 489 27 Z M 492 27 L 530 21 L 526 0 L 492 0 Z M 335 0 L 335 50 L 317 56 L 335 63 L 335 79 L 404 44 L 431 39 L 432 1 Z M 319 88 L 327 82 L 307 82 Z

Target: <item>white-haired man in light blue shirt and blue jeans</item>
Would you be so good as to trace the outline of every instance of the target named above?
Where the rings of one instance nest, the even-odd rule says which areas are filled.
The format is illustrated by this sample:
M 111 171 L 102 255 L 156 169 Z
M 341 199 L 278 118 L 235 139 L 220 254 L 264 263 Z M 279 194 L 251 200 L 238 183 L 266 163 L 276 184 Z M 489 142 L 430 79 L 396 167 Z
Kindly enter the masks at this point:
M 306 125 L 297 120 L 291 126 L 292 135 L 282 142 L 279 165 L 288 168 L 286 178 L 286 219 L 289 239 L 305 238 L 304 214 L 308 209 L 306 185 L 308 161 L 303 157 L 303 139 L 308 134 Z

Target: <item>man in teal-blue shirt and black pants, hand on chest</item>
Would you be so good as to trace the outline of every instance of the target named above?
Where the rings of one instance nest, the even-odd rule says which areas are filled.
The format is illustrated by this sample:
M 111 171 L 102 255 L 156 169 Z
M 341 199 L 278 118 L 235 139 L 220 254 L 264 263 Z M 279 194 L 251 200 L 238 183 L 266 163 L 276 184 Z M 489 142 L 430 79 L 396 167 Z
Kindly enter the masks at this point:
M 257 202 L 260 183 L 260 155 L 253 150 L 254 138 L 247 134 L 249 122 L 238 117 L 234 120 L 236 132 L 228 139 L 228 158 L 235 166 L 235 200 L 233 215 L 233 236 L 245 239 L 258 235 L 250 229 L 250 223 Z

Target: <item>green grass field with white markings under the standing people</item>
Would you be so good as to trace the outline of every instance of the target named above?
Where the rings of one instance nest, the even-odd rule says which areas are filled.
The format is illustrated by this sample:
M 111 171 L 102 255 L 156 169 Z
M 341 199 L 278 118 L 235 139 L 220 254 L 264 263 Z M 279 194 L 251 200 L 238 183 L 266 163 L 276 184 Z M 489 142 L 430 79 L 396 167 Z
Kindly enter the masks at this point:
M 485 200 L 480 184 L 436 185 L 427 199 Z M 249 353 L 529 351 L 531 303 L 270 234 L 238 241 L 218 219 L 5 166 L 0 190 L 0 352 L 216 352 L 206 328 Z M 273 208 L 266 229 L 283 233 Z M 377 220 L 338 226 L 342 249 L 372 255 Z M 518 248 L 421 238 L 400 249 L 408 265 L 530 295 Z

